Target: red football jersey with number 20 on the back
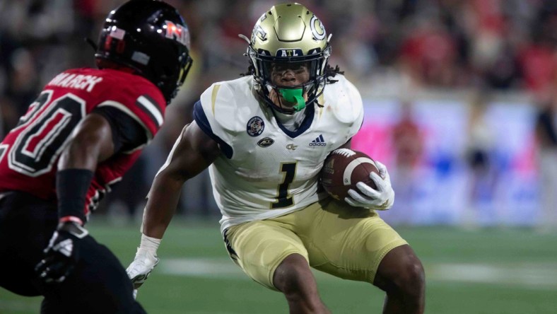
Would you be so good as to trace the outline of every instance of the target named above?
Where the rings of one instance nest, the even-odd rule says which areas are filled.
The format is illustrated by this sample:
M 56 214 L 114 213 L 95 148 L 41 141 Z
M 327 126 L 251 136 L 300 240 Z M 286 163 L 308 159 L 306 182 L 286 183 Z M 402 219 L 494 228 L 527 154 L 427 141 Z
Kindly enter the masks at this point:
M 0 144 L 0 192 L 19 190 L 56 199 L 57 161 L 71 132 L 97 107 L 115 107 L 139 122 L 153 139 L 163 124 L 166 101 L 141 76 L 112 69 L 71 69 L 42 90 L 28 112 Z M 86 214 L 110 185 L 121 180 L 141 153 L 139 146 L 99 163 L 89 187 Z

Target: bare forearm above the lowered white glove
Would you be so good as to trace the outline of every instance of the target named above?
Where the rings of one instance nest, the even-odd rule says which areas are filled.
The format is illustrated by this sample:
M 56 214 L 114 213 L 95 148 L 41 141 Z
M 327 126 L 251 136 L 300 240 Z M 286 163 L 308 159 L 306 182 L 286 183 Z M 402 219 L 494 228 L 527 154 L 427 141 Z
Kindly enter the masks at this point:
M 157 175 L 143 215 L 143 234 L 152 238 L 163 238 L 174 216 L 183 183 L 182 180 L 168 178 L 165 173 Z

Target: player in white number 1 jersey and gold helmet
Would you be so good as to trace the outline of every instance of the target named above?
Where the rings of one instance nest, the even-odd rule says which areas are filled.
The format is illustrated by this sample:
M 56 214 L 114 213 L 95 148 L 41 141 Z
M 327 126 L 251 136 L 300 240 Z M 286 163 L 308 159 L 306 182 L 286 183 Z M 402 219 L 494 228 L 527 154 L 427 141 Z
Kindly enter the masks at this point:
M 321 21 L 305 6 L 279 4 L 255 24 L 250 73 L 214 83 L 194 106 L 148 194 L 141 245 L 128 274 L 143 284 L 183 183 L 209 167 L 232 260 L 281 291 L 291 313 L 329 313 L 310 267 L 367 281 L 386 292 L 384 313 L 423 313 L 425 275 L 408 243 L 377 215 L 394 192 L 384 165 L 344 202 L 319 189 L 319 170 L 349 148 L 363 121 L 360 93 L 338 67 Z

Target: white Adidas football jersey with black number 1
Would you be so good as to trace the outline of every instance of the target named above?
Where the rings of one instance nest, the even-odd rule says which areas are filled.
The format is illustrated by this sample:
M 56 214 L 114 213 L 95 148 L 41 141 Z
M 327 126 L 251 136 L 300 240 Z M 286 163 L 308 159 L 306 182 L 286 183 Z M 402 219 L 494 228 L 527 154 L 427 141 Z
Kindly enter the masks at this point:
M 334 77 L 307 107 L 305 120 L 288 131 L 257 97 L 252 76 L 214 83 L 194 107 L 201 129 L 223 154 L 209 167 L 221 209 L 221 230 L 269 219 L 326 197 L 317 192 L 319 170 L 331 151 L 358 132 L 363 122 L 360 93 L 344 76 Z

